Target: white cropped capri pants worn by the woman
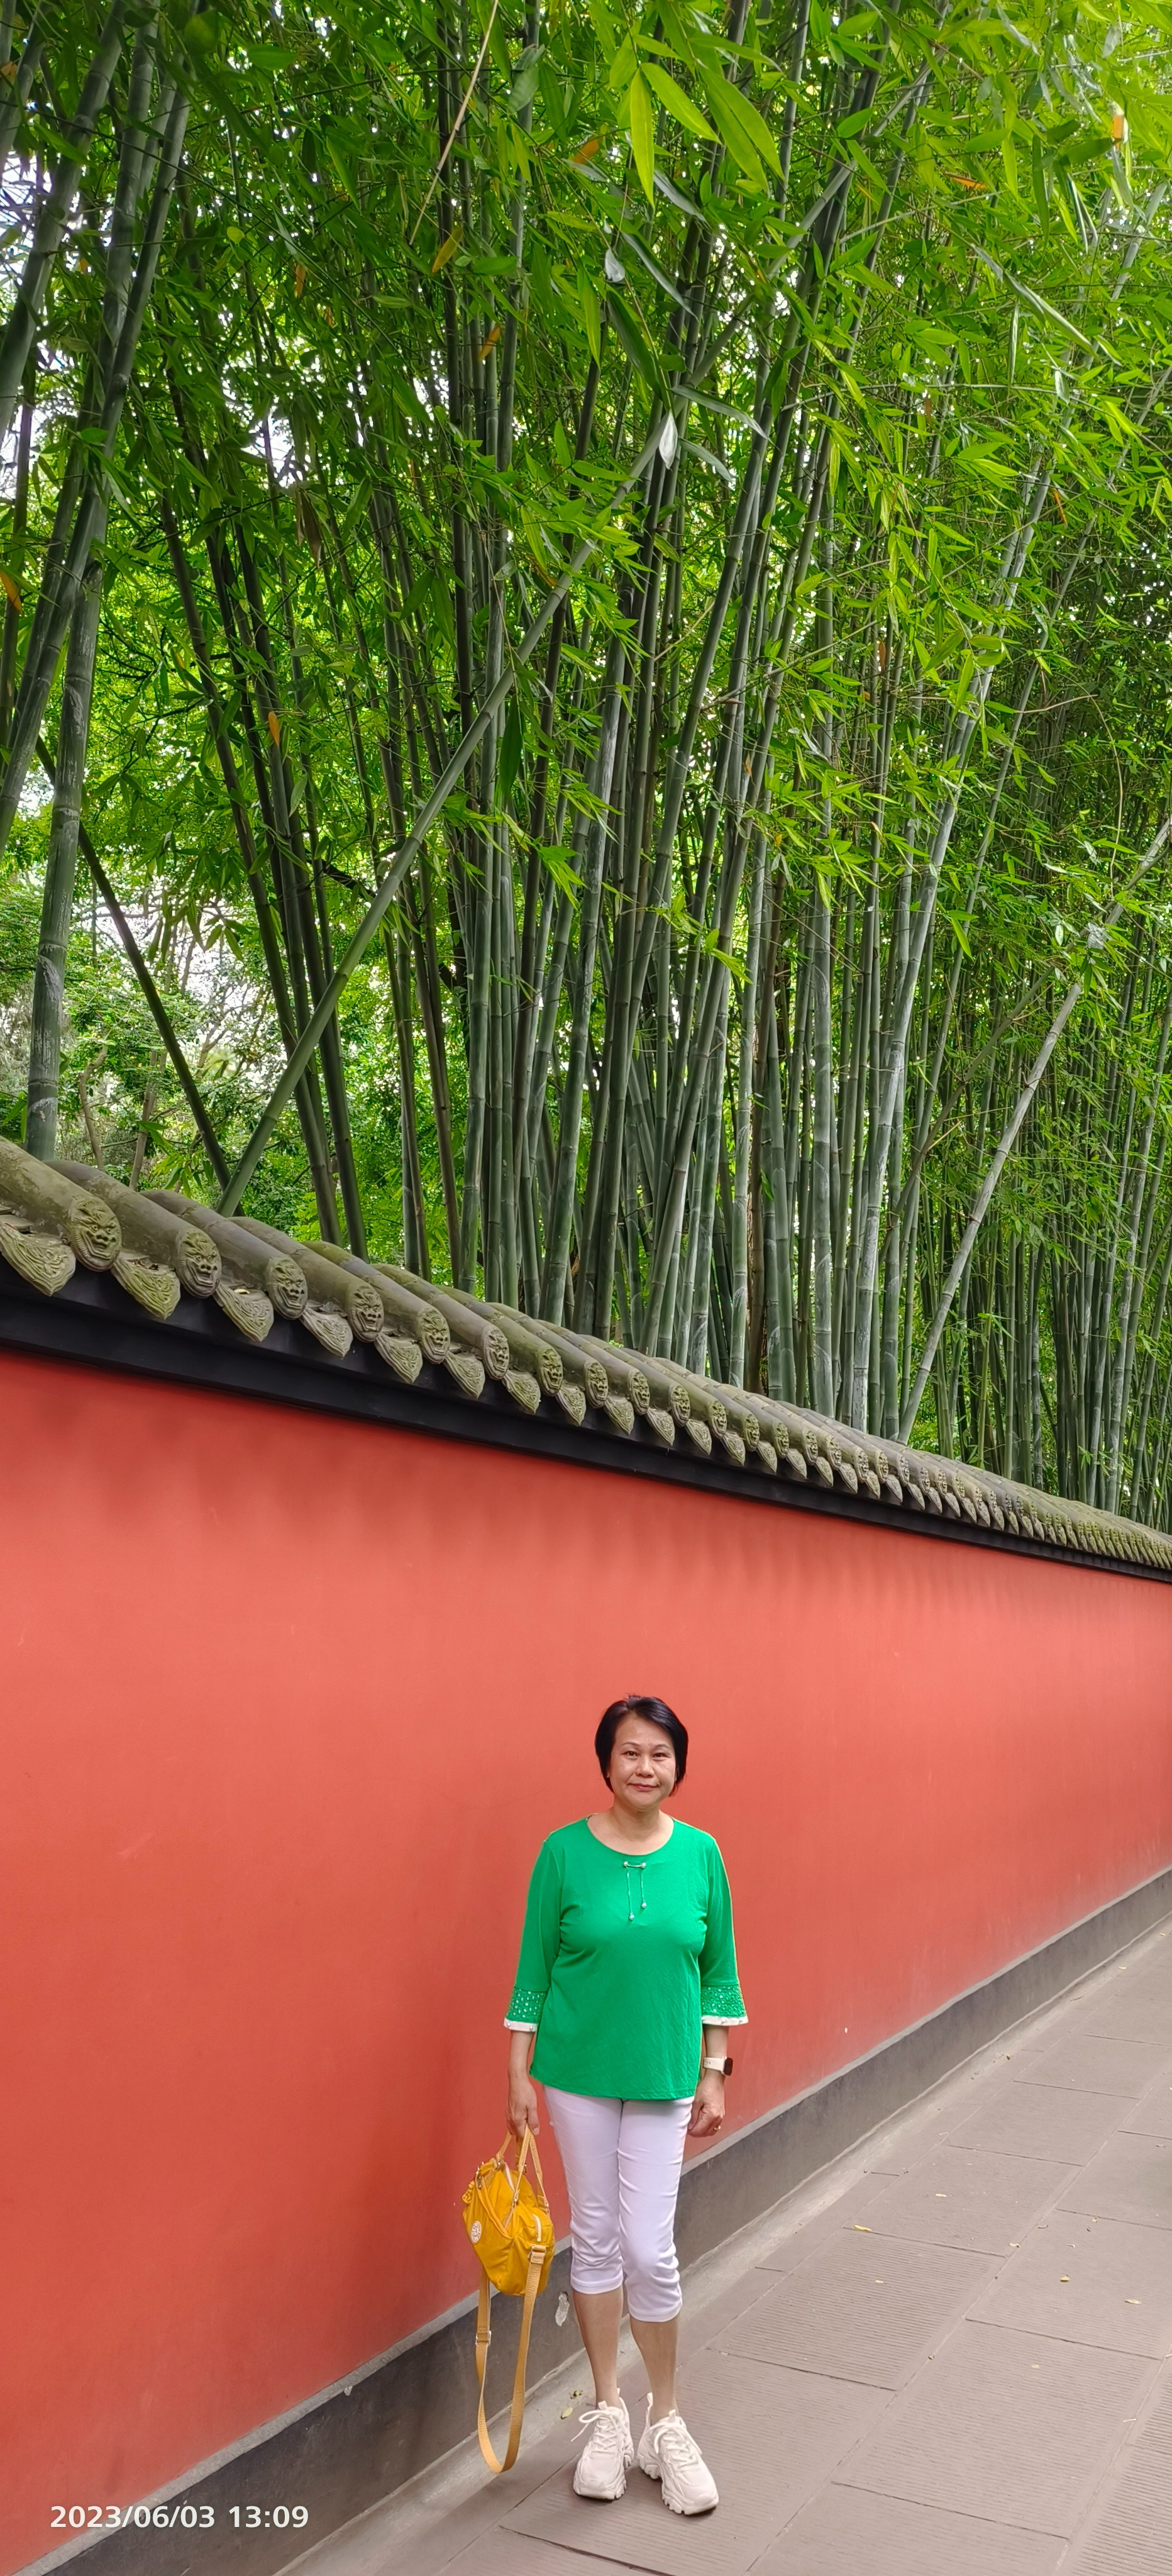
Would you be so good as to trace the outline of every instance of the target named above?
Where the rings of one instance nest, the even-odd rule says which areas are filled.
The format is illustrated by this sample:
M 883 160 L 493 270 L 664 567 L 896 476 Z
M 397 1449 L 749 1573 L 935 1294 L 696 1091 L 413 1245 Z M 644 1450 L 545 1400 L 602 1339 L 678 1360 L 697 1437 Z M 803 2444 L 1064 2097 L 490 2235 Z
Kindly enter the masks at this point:
M 546 2084 L 549 2117 L 569 2190 L 569 2280 L 574 2290 L 621 2290 L 647 2326 L 680 2313 L 675 2197 L 685 2102 L 613 2102 Z

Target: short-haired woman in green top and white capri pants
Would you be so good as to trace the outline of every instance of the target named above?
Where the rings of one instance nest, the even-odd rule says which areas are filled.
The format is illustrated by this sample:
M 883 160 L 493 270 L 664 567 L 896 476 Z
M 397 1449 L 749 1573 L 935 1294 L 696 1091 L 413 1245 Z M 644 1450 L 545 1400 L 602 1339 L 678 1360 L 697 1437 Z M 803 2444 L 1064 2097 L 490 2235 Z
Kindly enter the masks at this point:
M 744 2022 L 729 1880 L 711 1834 L 662 1814 L 688 1765 L 688 1731 L 662 1700 L 616 1700 L 595 1754 L 610 1806 L 551 1834 L 528 1888 L 505 2017 L 507 2117 L 518 2138 L 538 2128 L 533 2066 L 569 2187 L 569 2282 L 595 2375 L 574 2488 L 621 2496 L 639 2458 L 672 2514 L 706 2514 L 716 2481 L 675 2403 L 675 2197 L 683 2141 L 724 2123 L 726 2030 Z M 639 2452 L 618 2396 L 623 2282 L 652 2383 Z

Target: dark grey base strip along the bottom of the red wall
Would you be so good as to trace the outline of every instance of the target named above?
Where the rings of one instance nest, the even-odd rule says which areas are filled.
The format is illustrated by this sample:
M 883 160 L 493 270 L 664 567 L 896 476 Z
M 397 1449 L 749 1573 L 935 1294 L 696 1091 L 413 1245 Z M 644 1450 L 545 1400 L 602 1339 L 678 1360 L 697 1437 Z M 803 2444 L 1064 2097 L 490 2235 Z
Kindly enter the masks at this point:
M 979 2048 L 1010 2030 L 1066 1986 L 1115 1958 L 1172 1914 L 1172 1870 L 1149 1878 L 1102 1911 L 1059 1932 L 1056 1940 L 1012 1960 L 997 1976 L 958 1994 L 925 2022 L 845 2066 L 827 2084 L 786 2102 L 752 2128 L 685 2166 L 677 2241 L 695 2262 L 750 2226 L 778 2200 L 809 2182 L 824 2164 L 858 2146 L 881 2120 L 904 2110 Z M 456 2221 L 453 2221 L 456 2223 Z M 569 2251 L 554 2257 L 549 2293 L 533 2316 L 531 2385 L 567 2357 L 554 2324 L 556 2298 L 569 2285 Z M 513 2385 L 518 2300 L 492 2306 L 492 2388 L 505 2401 Z M 317 2403 L 294 2421 L 260 2434 L 250 2447 L 188 2483 L 162 2491 L 170 2506 L 185 2499 L 214 2509 L 214 2530 L 126 2530 L 75 2550 L 39 2558 L 26 2576 L 77 2566 L 80 2576 L 276 2576 L 296 2548 L 309 2548 L 363 2514 L 381 2496 L 428 2468 L 477 2424 L 474 2318 L 469 2311 Z M 155 2501 L 155 2499 L 152 2499 Z M 307 2504 L 309 2530 L 234 2532 L 232 2504 Z

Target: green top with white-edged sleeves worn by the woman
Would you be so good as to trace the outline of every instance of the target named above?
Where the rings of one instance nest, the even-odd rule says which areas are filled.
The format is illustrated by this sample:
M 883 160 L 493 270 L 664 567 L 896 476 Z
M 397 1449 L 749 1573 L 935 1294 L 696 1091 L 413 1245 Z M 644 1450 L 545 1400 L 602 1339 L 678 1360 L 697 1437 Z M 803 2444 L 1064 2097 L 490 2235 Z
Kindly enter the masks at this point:
M 703 2022 L 744 2022 L 719 1844 L 672 1819 L 636 1860 L 585 1816 L 541 1844 L 507 2030 L 536 2030 L 533 2074 L 559 2092 L 683 2102 Z

